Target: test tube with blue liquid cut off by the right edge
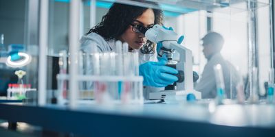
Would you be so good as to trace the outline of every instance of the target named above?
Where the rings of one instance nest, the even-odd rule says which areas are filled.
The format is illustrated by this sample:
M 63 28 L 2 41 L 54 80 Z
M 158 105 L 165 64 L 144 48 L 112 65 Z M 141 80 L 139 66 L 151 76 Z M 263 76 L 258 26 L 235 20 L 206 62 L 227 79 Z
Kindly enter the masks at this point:
M 270 69 L 268 89 L 267 89 L 267 103 L 273 103 L 274 101 L 274 68 Z

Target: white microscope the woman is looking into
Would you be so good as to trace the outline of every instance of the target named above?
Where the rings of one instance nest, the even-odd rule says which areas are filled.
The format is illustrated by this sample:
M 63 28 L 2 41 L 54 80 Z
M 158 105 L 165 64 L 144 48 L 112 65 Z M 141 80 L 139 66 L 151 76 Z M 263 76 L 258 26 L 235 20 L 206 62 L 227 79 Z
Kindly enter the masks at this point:
M 151 42 L 162 42 L 159 56 L 166 55 L 168 60 L 166 66 L 173 67 L 179 71 L 177 77 L 179 80 L 173 85 L 166 87 L 166 90 L 160 92 L 151 92 L 149 99 L 165 99 L 166 96 L 179 95 L 184 96 L 192 93 L 196 99 L 201 99 L 201 92 L 194 90 L 193 78 L 197 81 L 197 73 L 192 71 L 192 51 L 177 43 L 179 36 L 173 30 L 164 29 L 160 25 L 154 25 L 146 30 L 145 37 Z M 174 55 L 179 55 L 177 60 L 174 60 Z

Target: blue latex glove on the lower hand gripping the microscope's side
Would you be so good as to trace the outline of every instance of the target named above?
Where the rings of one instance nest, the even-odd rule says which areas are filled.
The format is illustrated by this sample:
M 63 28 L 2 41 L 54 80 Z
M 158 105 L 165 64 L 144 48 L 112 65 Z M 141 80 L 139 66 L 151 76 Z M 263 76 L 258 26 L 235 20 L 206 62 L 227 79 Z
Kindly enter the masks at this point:
M 140 64 L 140 75 L 143 76 L 144 86 L 165 87 L 177 81 L 178 71 L 169 66 L 164 66 L 166 62 L 146 62 Z

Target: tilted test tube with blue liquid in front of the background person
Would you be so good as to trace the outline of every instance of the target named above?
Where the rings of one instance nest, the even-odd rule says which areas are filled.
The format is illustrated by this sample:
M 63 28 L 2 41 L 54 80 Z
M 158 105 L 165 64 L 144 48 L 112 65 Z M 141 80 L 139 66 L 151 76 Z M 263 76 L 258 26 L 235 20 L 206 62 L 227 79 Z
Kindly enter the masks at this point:
M 216 79 L 216 86 L 217 86 L 217 103 L 222 104 L 223 99 L 226 98 L 225 95 L 225 86 L 224 86 L 224 81 L 223 81 L 223 70 L 221 68 L 221 64 L 217 64 L 214 66 L 214 75 Z

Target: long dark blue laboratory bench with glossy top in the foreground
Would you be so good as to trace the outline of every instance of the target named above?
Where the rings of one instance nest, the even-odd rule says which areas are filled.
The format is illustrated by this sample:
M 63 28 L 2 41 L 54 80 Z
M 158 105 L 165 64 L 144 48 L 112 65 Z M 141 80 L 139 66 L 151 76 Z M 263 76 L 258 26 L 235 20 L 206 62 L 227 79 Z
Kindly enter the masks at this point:
M 274 136 L 275 104 L 215 105 L 213 101 L 144 105 L 0 103 L 0 119 L 81 136 Z

